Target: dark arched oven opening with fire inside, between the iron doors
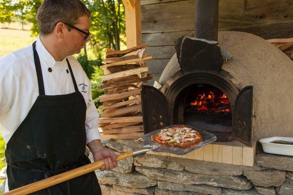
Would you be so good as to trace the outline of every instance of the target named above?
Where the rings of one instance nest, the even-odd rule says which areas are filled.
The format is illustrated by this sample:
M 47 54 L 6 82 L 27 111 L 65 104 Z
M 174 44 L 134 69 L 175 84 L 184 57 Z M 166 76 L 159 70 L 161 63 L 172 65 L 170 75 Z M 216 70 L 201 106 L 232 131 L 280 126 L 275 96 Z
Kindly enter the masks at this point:
M 209 131 L 217 141 L 232 141 L 232 114 L 227 96 L 218 88 L 197 83 L 186 89 L 184 124 Z

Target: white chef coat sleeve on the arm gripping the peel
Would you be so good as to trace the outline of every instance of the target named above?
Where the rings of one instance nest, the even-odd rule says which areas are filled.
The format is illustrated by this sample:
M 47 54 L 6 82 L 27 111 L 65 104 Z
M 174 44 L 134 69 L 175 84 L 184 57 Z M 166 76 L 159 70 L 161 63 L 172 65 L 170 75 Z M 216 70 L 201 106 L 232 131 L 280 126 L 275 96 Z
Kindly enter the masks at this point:
M 91 82 L 88 80 L 88 101 L 86 105 L 86 143 L 101 139 L 98 130 L 99 113 L 91 96 Z

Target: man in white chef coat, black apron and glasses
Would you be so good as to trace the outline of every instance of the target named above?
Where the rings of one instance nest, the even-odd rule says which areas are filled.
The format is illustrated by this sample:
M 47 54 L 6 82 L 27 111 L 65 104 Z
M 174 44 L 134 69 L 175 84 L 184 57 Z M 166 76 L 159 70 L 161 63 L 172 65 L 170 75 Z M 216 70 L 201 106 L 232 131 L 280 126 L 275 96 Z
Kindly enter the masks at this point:
M 78 61 L 89 36 L 90 11 L 79 0 L 45 0 L 37 14 L 40 35 L 26 48 L 1 58 L 0 124 L 6 142 L 6 191 L 105 159 L 91 82 Z M 101 194 L 94 172 L 36 192 Z

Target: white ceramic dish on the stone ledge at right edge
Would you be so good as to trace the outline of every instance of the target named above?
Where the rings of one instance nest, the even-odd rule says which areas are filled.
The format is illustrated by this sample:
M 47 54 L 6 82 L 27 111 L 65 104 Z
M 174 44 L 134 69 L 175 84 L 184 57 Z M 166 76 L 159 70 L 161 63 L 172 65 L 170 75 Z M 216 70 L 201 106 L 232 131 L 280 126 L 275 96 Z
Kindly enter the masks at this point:
M 293 137 L 267 137 L 260 139 L 259 142 L 266 153 L 293 156 L 293 145 L 270 143 L 276 140 L 293 141 Z

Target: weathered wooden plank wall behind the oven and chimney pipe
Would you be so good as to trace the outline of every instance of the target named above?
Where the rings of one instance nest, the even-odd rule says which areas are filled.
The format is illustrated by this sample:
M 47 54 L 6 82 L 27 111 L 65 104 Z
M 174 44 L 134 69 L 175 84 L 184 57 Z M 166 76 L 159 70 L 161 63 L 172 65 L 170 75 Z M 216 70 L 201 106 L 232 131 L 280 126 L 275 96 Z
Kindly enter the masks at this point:
M 161 76 L 180 35 L 194 36 L 195 0 L 141 0 L 142 43 Z M 219 0 L 219 31 L 249 32 L 264 39 L 293 37 L 293 0 Z

